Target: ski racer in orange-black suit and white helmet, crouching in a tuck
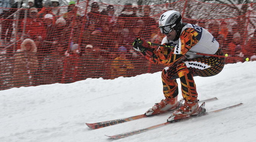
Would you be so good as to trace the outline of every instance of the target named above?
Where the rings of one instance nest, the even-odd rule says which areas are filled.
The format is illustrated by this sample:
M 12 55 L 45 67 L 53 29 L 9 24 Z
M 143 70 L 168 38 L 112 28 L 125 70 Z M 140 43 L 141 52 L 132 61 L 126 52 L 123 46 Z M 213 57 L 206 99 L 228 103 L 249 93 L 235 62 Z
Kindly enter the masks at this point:
M 198 93 L 193 76 L 214 76 L 224 68 L 225 59 L 196 55 L 198 52 L 211 55 L 223 55 L 219 43 L 206 29 L 198 25 L 183 23 L 178 11 L 170 10 L 159 18 L 159 28 L 165 34 L 161 44 L 173 46 L 173 49 L 159 47 L 157 50 L 150 47 L 143 38 L 136 38 L 133 48 L 141 52 L 149 61 L 167 66 L 162 70 L 162 83 L 165 99 L 156 103 L 146 115 L 154 115 L 178 107 L 178 84 L 180 78 L 181 93 L 184 104 L 175 110 L 169 119 L 181 119 L 188 115 L 201 113 L 198 105 Z

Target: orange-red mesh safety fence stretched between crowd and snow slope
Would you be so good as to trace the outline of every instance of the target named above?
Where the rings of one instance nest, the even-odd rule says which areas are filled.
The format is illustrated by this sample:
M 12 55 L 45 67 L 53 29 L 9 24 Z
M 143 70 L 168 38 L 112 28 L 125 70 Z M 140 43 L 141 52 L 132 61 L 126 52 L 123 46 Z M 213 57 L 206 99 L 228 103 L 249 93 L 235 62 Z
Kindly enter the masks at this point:
M 161 71 L 164 66 L 149 63 L 131 43 L 140 36 L 160 44 L 164 35 L 158 19 L 171 9 L 181 12 L 183 22 L 209 30 L 225 54 L 256 56 L 255 3 L 222 5 L 180 0 L 164 5 L 122 6 L 86 1 L 41 9 L 26 9 L 21 4 L 0 8 L 0 90 Z M 226 60 L 235 62 L 241 60 Z

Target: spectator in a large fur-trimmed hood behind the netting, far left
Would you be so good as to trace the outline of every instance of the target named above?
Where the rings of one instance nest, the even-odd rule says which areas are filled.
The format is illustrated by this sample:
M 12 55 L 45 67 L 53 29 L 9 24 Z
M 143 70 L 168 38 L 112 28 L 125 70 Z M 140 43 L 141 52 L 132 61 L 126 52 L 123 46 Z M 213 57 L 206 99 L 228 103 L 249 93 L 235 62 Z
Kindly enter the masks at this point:
M 35 73 L 38 69 L 36 56 L 37 47 L 32 39 L 24 39 L 21 49 L 17 50 L 14 62 L 13 84 L 18 86 L 33 85 Z

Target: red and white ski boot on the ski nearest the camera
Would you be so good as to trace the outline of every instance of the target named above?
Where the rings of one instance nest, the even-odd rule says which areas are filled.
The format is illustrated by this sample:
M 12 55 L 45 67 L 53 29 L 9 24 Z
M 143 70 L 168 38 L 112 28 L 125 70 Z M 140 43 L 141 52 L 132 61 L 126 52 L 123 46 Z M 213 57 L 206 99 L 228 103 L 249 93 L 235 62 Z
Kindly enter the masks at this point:
M 185 101 L 185 103 L 179 109 L 173 112 L 173 114 L 167 119 L 167 121 L 180 120 L 184 117 L 196 116 L 206 112 L 204 108 L 205 103 L 203 102 L 199 107 L 198 101 L 199 100 Z

